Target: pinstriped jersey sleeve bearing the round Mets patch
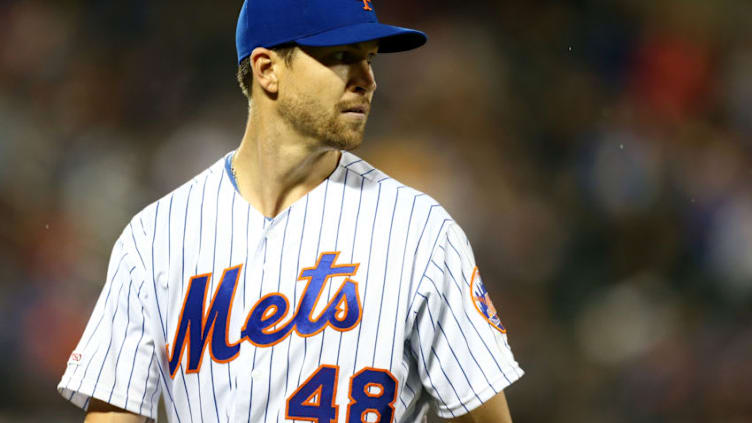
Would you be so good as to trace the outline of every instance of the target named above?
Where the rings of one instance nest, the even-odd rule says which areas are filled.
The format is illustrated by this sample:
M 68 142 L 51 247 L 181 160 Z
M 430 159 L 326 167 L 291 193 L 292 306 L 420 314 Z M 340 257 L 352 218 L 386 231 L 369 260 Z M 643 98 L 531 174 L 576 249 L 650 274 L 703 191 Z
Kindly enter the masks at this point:
M 466 414 L 523 375 L 454 222 L 434 246 L 410 313 L 410 348 L 439 417 Z

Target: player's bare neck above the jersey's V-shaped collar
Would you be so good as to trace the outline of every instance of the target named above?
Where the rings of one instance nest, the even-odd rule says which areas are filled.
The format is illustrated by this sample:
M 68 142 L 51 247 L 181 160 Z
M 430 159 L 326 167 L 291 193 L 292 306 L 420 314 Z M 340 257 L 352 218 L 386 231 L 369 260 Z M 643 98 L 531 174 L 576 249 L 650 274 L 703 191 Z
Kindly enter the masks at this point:
M 240 195 L 264 216 L 275 217 L 324 181 L 340 152 L 269 122 L 251 112 L 233 168 Z

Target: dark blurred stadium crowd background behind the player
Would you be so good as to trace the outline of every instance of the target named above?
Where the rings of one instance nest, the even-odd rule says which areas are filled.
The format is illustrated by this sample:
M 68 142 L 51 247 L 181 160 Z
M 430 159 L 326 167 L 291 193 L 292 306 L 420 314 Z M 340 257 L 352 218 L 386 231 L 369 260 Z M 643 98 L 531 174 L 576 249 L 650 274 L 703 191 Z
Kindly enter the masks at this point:
M 374 3 L 430 41 L 356 153 L 467 232 L 515 422 L 752 422 L 752 2 Z M 242 136 L 240 5 L 0 0 L 0 421 L 81 421 L 115 238 Z

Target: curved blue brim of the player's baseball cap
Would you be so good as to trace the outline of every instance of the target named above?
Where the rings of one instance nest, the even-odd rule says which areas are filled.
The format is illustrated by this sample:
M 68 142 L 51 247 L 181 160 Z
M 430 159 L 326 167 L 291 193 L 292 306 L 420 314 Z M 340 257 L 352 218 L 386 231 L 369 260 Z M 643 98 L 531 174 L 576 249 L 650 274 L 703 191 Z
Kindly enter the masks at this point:
M 373 40 L 379 40 L 379 53 L 396 53 L 418 48 L 426 43 L 428 37 L 414 29 L 367 22 L 299 38 L 295 43 L 310 47 L 330 47 Z

